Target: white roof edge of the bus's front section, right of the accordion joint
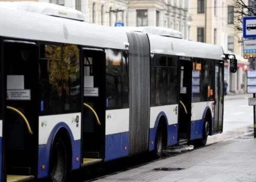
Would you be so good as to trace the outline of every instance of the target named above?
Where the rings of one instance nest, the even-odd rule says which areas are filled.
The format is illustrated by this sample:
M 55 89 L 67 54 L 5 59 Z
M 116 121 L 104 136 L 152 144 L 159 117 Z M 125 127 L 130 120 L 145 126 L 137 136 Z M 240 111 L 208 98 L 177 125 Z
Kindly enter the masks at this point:
M 148 34 L 151 53 L 223 60 L 222 46 Z

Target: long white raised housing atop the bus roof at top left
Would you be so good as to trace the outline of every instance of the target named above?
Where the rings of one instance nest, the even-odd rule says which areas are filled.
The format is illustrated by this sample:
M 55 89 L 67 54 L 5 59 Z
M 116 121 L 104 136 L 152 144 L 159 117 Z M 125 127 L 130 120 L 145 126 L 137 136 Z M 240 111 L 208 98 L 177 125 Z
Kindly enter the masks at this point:
M 49 15 L 78 21 L 86 21 L 83 12 L 65 6 L 43 2 L 0 2 L 0 7 L 34 12 L 42 15 Z

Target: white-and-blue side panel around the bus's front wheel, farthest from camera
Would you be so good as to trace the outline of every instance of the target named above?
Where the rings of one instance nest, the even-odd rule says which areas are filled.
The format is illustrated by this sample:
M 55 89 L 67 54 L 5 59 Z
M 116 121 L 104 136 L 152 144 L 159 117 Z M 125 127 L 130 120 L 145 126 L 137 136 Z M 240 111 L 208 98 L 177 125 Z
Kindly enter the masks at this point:
M 212 117 L 213 117 L 213 108 L 212 108 L 213 102 L 214 101 L 192 103 L 190 140 L 202 138 L 203 127 L 204 127 L 203 126 L 203 123 L 204 123 L 203 116 L 206 112 L 206 109 L 210 108 Z M 212 118 L 212 124 L 213 124 L 213 118 Z

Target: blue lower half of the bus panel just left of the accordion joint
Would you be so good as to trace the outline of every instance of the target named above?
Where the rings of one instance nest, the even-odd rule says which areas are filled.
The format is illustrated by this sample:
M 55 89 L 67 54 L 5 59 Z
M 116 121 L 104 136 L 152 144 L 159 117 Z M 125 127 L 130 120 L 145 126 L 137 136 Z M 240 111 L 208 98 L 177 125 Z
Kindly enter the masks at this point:
M 129 155 L 129 132 L 106 135 L 105 159 L 110 161 Z

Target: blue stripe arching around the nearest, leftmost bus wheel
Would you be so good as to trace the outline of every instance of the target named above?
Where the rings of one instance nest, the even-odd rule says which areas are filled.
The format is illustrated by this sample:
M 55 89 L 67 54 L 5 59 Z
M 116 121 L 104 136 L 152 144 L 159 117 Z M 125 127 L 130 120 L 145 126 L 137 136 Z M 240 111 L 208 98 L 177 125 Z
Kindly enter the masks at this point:
M 61 127 L 67 129 L 69 136 L 71 138 L 71 145 L 72 145 L 72 170 L 78 169 L 80 167 L 80 140 L 74 140 L 73 134 L 71 129 L 68 125 L 64 122 L 60 122 L 54 126 L 52 132 L 48 138 L 47 144 L 39 145 L 38 147 L 38 178 L 43 178 L 48 176 L 49 173 L 49 161 L 50 161 L 50 150 L 51 145 L 54 140 L 54 136 L 56 132 L 59 131 Z M 76 161 L 76 158 L 79 158 L 79 161 Z M 44 165 L 44 169 L 42 166 Z

